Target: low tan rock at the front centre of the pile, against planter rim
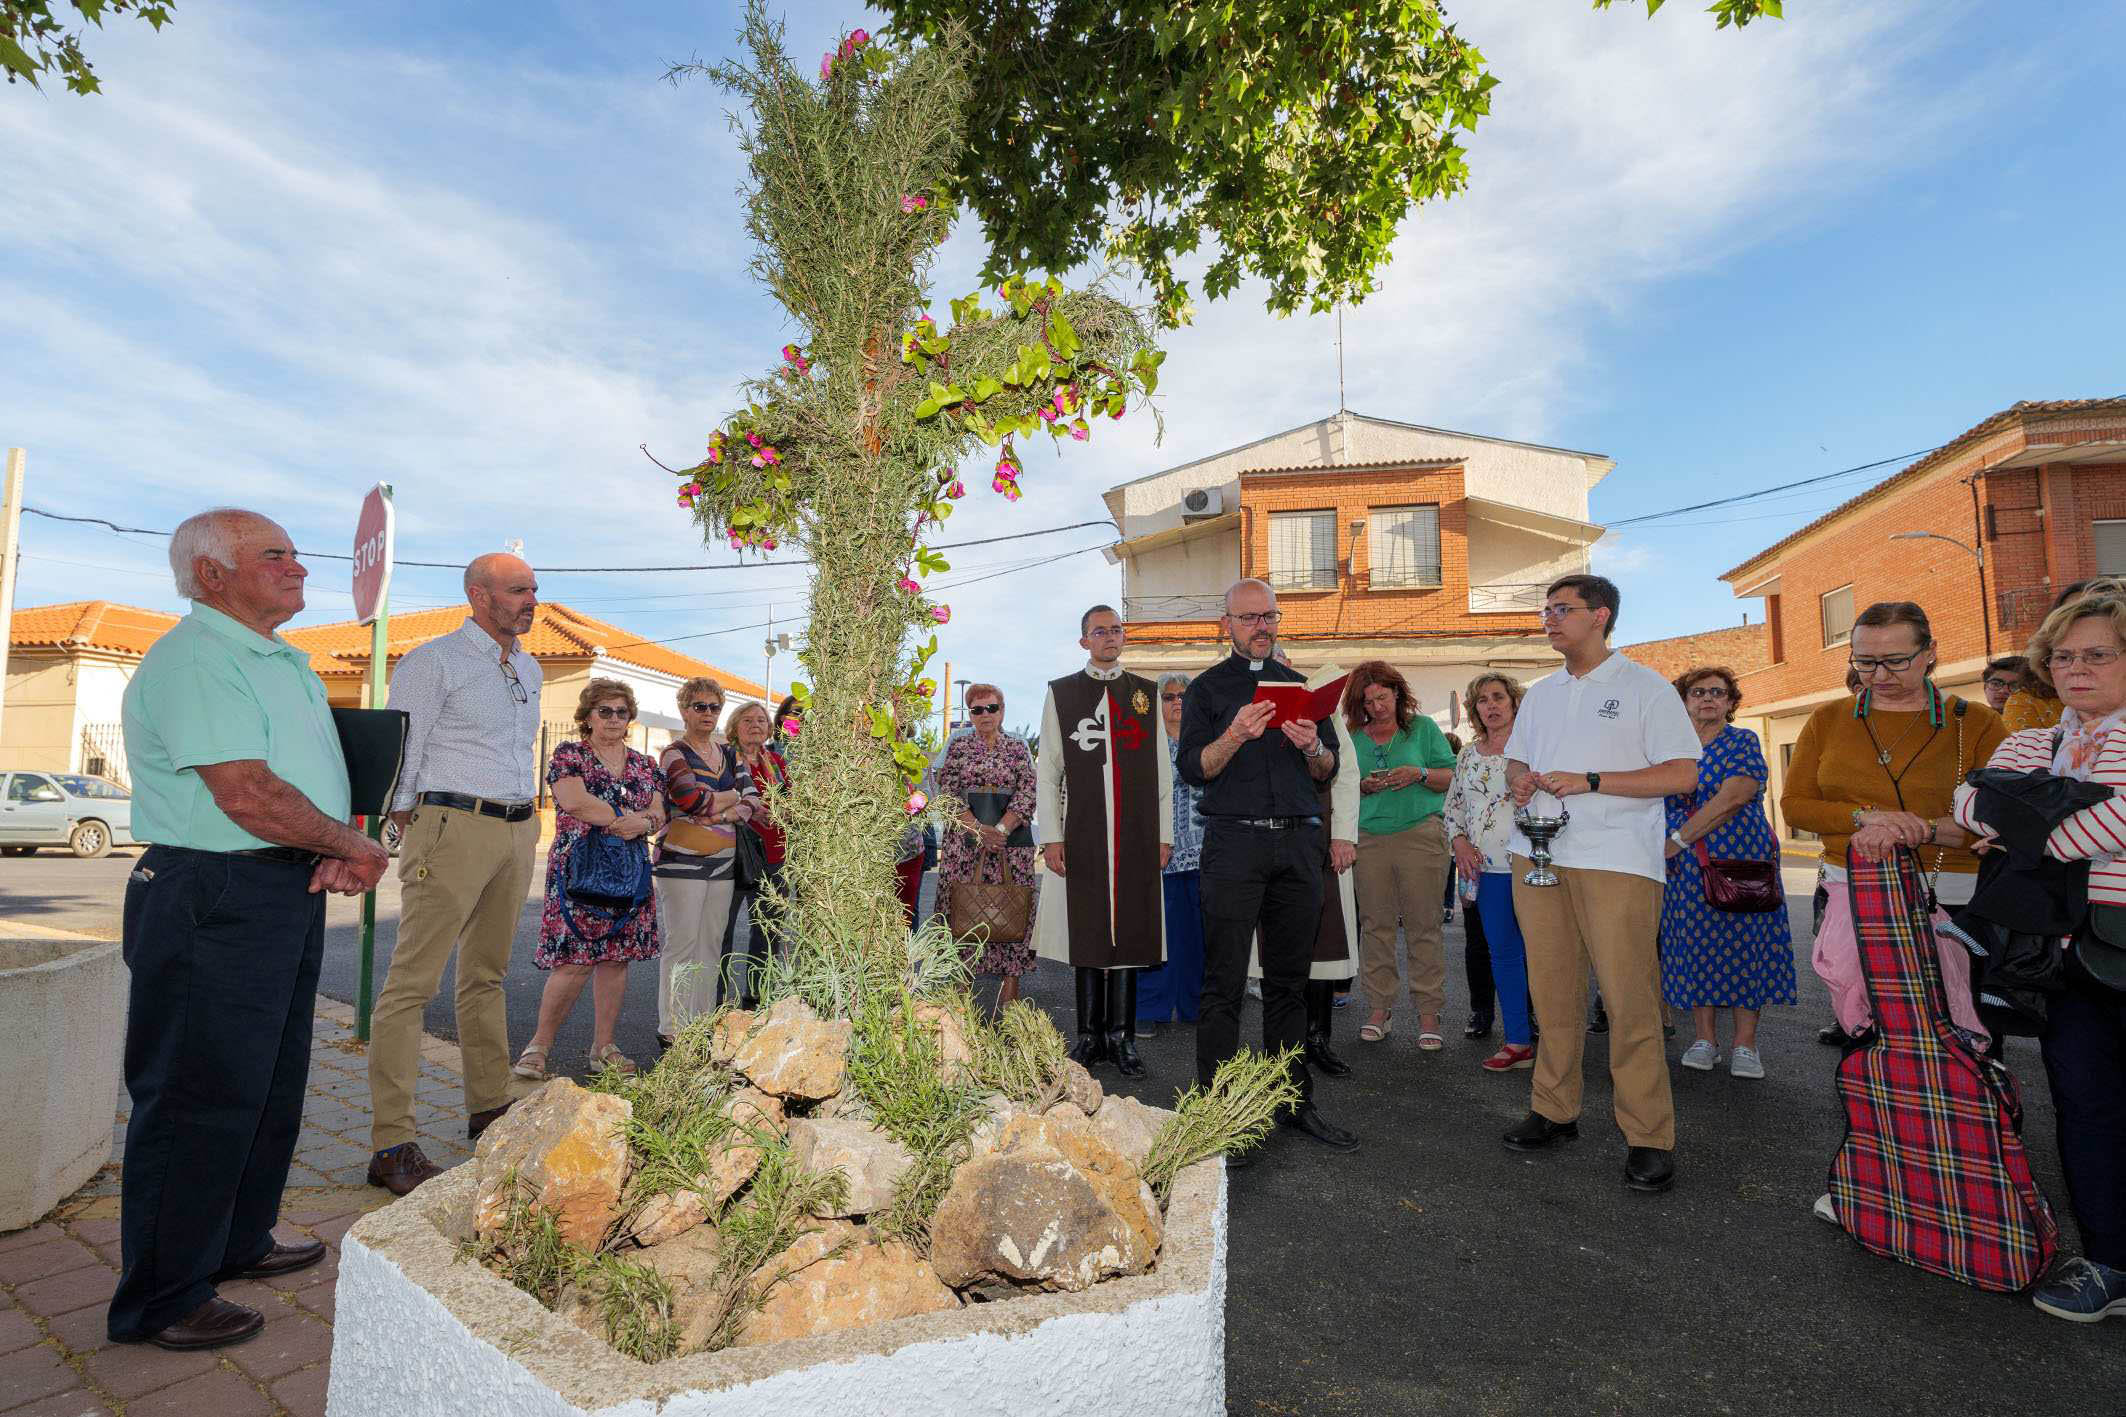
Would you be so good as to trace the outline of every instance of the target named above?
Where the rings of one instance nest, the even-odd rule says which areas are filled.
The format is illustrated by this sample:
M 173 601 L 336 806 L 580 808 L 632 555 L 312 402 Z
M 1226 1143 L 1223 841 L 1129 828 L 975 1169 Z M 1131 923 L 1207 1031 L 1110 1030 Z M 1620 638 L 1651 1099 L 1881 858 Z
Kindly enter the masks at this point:
M 844 1249 L 833 1253 L 836 1247 Z M 872 1241 L 857 1226 L 799 1239 L 761 1266 L 757 1283 L 765 1290 L 765 1300 L 746 1319 L 738 1347 L 959 1307 L 959 1296 L 923 1256 L 899 1241 Z

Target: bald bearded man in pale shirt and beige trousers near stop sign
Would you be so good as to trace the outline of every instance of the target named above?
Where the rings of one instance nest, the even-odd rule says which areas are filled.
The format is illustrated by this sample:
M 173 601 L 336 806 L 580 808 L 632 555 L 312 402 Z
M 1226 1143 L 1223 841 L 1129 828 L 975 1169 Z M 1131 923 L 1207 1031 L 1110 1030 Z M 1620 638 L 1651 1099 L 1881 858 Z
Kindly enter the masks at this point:
M 391 799 L 400 846 L 400 928 L 370 1020 L 370 1185 L 404 1196 L 440 1173 L 415 1143 L 412 1088 L 421 1013 L 457 950 L 457 1043 L 466 1060 L 466 1137 L 510 1105 L 502 973 L 538 850 L 540 667 L 519 635 L 538 578 L 493 552 L 466 567 L 472 616 L 406 652 L 391 707 L 412 718 Z

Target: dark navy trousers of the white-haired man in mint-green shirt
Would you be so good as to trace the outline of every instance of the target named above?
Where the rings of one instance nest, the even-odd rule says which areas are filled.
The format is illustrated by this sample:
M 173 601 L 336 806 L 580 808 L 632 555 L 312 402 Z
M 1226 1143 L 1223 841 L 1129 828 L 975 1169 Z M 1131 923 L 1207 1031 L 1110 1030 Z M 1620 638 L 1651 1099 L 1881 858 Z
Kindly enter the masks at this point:
M 153 846 L 125 884 L 125 1124 L 111 1338 L 272 1249 L 302 1132 L 325 897 L 310 867 Z

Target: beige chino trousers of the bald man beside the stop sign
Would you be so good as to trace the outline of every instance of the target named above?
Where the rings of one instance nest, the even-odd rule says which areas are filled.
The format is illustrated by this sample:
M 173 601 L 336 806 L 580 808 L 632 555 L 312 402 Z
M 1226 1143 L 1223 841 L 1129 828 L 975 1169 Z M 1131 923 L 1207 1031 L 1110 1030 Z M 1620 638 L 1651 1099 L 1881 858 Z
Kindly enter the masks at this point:
M 517 916 L 532 888 L 538 814 L 523 822 L 421 805 L 400 843 L 400 928 L 391 969 L 370 1013 L 370 1147 L 417 1137 L 412 1090 L 421 1075 L 421 1011 L 457 952 L 457 1045 L 466 1111 L 510 1100 L 510 1024 L 502 975 Z

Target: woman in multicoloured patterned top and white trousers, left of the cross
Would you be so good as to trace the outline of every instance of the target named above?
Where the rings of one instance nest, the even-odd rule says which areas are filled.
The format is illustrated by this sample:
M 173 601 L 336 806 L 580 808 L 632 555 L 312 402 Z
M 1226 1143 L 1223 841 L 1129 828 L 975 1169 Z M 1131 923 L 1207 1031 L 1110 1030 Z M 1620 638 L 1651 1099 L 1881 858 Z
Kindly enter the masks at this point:
M 663 916 L 663 954 L 657 956 L 657 1041 L 687 1020 L 708 1013 L 716 998 L 716 969 L 723 935 L 731 926 L 731 897 L 738 837 L 759 803 L 753 778 L 716 739 L 723 720 L 723 686 L 710 678 L 687 680 L 678 688 L 682 737 L 657 758 L 665 775 L 672 824 L 657 852 L 657 909 Z

